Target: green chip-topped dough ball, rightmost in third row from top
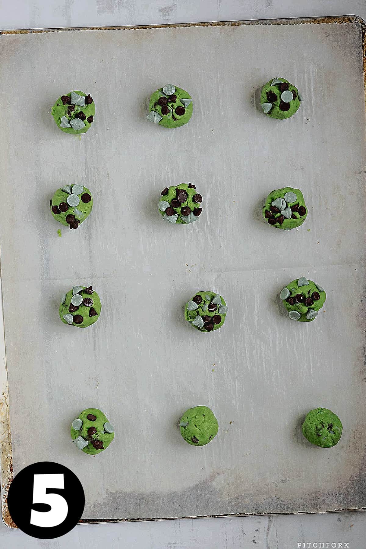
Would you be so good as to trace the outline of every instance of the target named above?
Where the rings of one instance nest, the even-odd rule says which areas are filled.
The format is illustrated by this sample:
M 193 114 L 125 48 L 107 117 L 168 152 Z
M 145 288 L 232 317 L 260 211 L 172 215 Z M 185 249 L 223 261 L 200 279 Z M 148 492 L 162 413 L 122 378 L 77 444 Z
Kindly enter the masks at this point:
M 324 288 L 303 276 L 290 282 L 280 293 L 280 299 L 289 311 L 289 318 L 299 322 L 314 320 L 325 298 Z

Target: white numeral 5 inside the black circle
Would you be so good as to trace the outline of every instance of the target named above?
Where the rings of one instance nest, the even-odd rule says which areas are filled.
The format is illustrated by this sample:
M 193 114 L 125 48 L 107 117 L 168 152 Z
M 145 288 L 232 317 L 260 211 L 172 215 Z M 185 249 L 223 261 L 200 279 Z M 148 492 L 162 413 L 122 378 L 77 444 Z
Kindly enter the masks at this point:
M 31 511 L 31 524 L 42 528 L 52 528 L 64 522 L 69 507 L 63 496 L 46 494 L 47 488 L 64 489 L 64 475 L 44 474 L 35 475 L 33 481 L 33 503 L 47 503 L 51 509 L 47 512 Z

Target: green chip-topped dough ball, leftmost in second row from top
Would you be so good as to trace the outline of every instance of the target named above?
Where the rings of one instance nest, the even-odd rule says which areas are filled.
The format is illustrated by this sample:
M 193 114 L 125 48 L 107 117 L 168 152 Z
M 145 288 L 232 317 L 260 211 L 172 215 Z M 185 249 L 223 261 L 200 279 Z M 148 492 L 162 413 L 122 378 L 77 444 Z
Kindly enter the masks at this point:
M 57 221 L 70 229 L 77 229 L 92 211 L 93 198 L 89 189 L 77 183 L 58 189 L 49 205 Z

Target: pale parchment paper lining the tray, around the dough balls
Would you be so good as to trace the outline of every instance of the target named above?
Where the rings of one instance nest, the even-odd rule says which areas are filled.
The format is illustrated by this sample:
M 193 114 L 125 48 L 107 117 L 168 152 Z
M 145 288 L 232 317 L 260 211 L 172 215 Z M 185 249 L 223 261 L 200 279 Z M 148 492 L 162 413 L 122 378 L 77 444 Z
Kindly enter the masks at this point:
M 364 27 L 298 23 L 0 36 L 14 474 L 37 461 L 65 464 L 84 486 L 87 522 L 365 506 Z M 260 111 L 258 89 L 273 76 L 305 96 L 287 121 Z M 194 99 L 192 120 L 176 131 L 145 121 L 149 94 L 167 82 Z M 97 109 L 81 137 L 50 115 L 75 87 Z M 183 181 L 196 184 L 204 214 L 168 227 L 159 193 Z M 91 189 L 94 209 L 59 238 L 49 198 L 70 182 Z M 275 231 L 260 206 L 287 185 L 302 189 L 309 215 L 298 230 Z M 305 325 L 278 299 L 301 275 L 328 296 Z M 102 299 L 89 329 L 58 318 L 72 284 L 92 284 Z M 184 321 L 200 289 L 230 307 L 215 333 Z M 177 429 L 198 404 L 219 422 L 202 448 Z M 116 428 L 95 458 L 69 436 L 91 406 Z M 332 450 L 301 435 L 317 406 L 344 424 Z

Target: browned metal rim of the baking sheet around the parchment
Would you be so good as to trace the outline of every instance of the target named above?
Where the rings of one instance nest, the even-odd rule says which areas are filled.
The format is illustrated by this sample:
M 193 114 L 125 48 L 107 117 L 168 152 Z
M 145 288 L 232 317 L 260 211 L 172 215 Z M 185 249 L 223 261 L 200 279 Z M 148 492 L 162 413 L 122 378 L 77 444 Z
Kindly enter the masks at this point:
M 60 32 L 60 31 L 83 31 L 83 30 L 138 30 L 138 29 L 167 29 L 176 27 L 194 27 L 194 26 L 224 26 L 224 25 L 301 25 L 301 24 L 357 24 L 361 30 L 362 51 L 363 51 L 363 72 L 365 85 L 365 103 L 366 103 L 366 23 L 358 15 L 336 15 L 328 17 L 316 18 L 292 18 L 292 19 L 259 19 L 248 21 L 211 21 L 207 23 L 179 23 L 170 25 L 138 25 L 138 26 L 109 26 L 109 27 L 60 27 L 57 29 L 19 29 L 19 30 L 3 30 L 0 35 L 12 34 L 27 34 L 27 33 L 43 33 L 43 32 Z M 0 271 L 1 277 L 1 271 Z M 1 295 L 2 300 L 2 295 Z M 2 300 L 3 302 L 3 300 Z M 2 350 L 2 365 L 0 366 L 0 492 L 1 492 L 1 514 L 5 525 L 9 528 L 17 528 L 10 517 L 8 510 L 8 490 L 13 480 L 13 455 L 12 455 L 12 434 L 9 421 L 9 389 L 8 389 L 8 371 L 5 354 L 5 335 L 4 335 L 4 319 L 2 306 L 0 308 L 0 346 Z M 366 507 L 358 509 L 335 509 L 334 511 L 325 511 L 326 513 L 347 512 L 347 511 L 365 511 Z M 240 513 L 240 514 L 223 514 L 223 515 L 205 515 L 202 517 L 185 517 L 185 518 L 214 518 L 214 517 L 244 517 L 250 514 L 260 515 L 266 513 Z M 277 514 L 277 513 L 272 513 Z M 315 513 L 278 513 L 278 514 L 315 514 Z M 147 522 L 149 520 L 171 520 L 178 517 L 169 518 L 149 518 L 149 519 L 87 519 L 80 520 L 79 524 L 102 524 L 109 522 Z M 179 517 L 181 518 L 181 517 Z

